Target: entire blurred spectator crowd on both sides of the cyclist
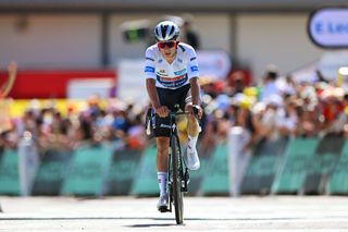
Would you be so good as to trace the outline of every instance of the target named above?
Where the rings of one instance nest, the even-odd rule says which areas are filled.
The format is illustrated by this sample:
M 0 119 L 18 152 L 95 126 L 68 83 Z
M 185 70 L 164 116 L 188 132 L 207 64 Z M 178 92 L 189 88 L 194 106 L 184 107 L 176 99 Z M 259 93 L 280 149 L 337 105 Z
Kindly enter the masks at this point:
M 247 86 L 241 72 L 234 72 L 226 81 L 201 77 L 203 148 L 225 141 L 234 125 L 252 135 L 246 149 L 260 139 L 279 136 L 348 135 L 348 94 L 336 82 L 325 81 L 320 73 L 295 82 L 291 76 L 281 77 L 275 66 L 269 66 L 260 81 Z M 107 103 L 102 106 L 101 101 Z M 1 132 L 0 146 L 15 148 L 23 137 L 32 137 L 44 151 L 100 143 L 114 149 L 141 150 L 147 146 L 146 107 L 98 96 L 90 96 L 86 103 L 87 108 L 80 111 L 66 106 L 66 114 L 54 105 L 32 105 L 23 117 L 11 119 L 12 126 Z M 185 121 L 178 126 L 185 134 Z

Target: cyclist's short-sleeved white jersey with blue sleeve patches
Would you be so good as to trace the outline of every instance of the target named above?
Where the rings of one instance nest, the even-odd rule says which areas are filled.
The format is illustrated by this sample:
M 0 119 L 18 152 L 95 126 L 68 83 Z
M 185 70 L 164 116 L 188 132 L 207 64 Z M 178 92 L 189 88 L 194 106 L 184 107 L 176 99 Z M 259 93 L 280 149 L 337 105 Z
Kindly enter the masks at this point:
M 146 78 L 156 80 L 160 88 L 175 89 L 189 84 L 189 80 L 199 76 L 195 49 L 184 42 L 177 46 L 175 60 L 170 64 L 157 45 L 146 50 Z

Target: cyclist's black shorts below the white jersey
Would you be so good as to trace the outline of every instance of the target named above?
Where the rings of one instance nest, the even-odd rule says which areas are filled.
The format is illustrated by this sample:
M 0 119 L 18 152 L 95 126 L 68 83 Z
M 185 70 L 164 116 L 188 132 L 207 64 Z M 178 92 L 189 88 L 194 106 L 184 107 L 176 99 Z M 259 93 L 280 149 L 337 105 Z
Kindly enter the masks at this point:
M 185 85 L 181 88 L 157 88 L 161 106 L 166 106 L 171 111 L 178 109 L 185 111 L 185 106 L 192 102 L 190 85 Z M 170 137 L 171 124 L 170 117 L 161 118 L 156 113 L 153 118 L 153 134 L 156 137 Z

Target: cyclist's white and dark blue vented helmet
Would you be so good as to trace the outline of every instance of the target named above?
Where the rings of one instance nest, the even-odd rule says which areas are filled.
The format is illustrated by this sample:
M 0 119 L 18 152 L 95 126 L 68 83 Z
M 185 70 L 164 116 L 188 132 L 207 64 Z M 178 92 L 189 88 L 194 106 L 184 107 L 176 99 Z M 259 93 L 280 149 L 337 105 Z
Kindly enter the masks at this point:
M 179 32 L 178 26 L 172 21 L 163 21 L 154 27 L 154 36 L 158 41 L 175 40 Z

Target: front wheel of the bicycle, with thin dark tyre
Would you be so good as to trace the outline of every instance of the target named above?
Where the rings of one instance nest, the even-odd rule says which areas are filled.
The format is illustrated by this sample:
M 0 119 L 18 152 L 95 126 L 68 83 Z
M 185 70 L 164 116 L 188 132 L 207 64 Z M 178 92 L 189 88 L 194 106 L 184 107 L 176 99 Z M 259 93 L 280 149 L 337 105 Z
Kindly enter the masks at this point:
M 184 222 L 184 200 L 182 192 L 182 160 L 179 156 L 179 144 L 176 136 L 172 136 L 172 166 L 173 166 L 173 199 L 175 208 L 175 219 L 177 224 Z

